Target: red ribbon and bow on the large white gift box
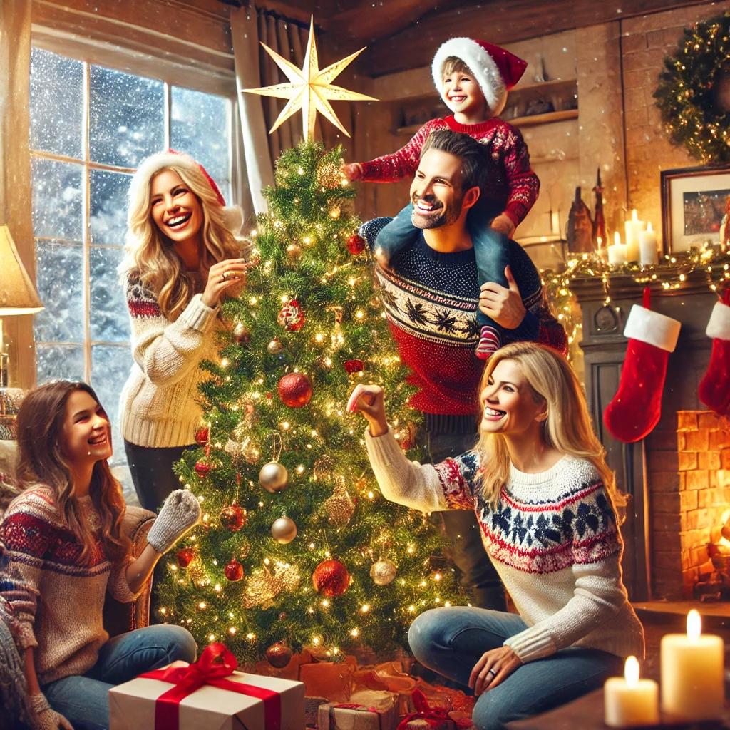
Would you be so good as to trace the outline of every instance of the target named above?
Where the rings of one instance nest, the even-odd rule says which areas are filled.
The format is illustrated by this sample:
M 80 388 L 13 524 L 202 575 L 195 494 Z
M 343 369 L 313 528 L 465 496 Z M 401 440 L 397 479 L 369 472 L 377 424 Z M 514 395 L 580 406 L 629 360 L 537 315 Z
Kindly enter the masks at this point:
M 180 702 L 203 685 L 260 699 L 264 702 L 265 729 L 281 730 L 280 694 L 226 679 L 234 673 L 237 666 L 236 657 L 223 644 L 211 644 L 203 650 L 198 661 L 189 666 L 171 666 L 139 675 L 175 685 L 161 694 L 155 702 L 155 730 L 179 730 Z

